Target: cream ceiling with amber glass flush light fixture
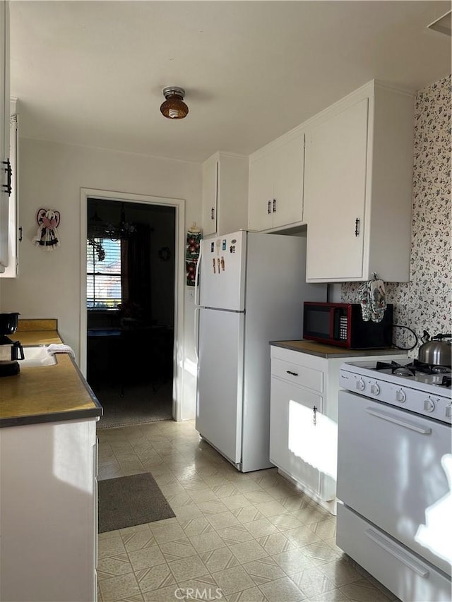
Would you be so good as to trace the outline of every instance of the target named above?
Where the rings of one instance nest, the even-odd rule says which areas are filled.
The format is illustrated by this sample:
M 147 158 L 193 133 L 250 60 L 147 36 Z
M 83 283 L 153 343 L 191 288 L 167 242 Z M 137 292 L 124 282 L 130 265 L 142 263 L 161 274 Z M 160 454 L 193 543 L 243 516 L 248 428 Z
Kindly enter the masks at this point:
M 451 73 L 447 1 L 11 0 L 20 136 L 203 161 L 249 155 L 371 79 Z M 162 88 L 189 115 L 160 114 Z

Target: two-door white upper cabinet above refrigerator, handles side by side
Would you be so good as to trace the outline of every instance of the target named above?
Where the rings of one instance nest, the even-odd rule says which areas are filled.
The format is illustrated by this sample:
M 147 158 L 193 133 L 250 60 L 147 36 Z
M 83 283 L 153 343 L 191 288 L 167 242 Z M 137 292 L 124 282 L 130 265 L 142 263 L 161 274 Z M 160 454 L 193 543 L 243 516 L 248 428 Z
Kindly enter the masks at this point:
M 303 222 L 304 132 L 297 130 L 256 151 L 249 162 L 250 230 Z

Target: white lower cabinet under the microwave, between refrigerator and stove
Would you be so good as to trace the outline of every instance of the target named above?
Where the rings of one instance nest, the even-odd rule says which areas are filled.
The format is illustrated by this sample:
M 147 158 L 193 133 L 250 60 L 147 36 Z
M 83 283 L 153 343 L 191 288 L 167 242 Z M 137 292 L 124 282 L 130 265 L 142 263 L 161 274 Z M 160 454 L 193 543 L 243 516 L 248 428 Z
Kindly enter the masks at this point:
M 270 462 L 283 476 L 336 511 L 339 368 L 344 361 L 400 360 L 405 354 L 351 351 L 315 356 L 271 345 Z M 336 355 L 336 356 L 334 356 Z

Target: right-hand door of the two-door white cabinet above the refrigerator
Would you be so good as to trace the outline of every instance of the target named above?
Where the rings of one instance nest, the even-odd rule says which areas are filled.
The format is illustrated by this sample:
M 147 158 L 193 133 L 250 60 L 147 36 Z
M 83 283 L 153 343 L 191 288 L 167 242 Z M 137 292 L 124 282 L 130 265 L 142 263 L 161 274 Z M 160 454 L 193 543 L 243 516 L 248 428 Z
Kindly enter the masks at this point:
M 303 221 L 304 134 L 273 152 L 273 228 Z

